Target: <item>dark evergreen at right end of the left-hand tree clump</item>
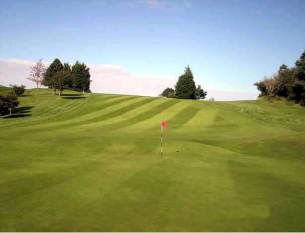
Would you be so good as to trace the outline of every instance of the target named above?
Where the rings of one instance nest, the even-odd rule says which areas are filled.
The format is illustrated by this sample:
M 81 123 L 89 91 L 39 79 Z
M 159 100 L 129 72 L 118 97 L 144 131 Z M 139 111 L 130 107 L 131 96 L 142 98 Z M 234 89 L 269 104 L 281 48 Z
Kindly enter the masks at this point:
M 90 71 L 84 63 L 76 61 L 72 66 L 73 89 L 76 91 L 90 91 Z

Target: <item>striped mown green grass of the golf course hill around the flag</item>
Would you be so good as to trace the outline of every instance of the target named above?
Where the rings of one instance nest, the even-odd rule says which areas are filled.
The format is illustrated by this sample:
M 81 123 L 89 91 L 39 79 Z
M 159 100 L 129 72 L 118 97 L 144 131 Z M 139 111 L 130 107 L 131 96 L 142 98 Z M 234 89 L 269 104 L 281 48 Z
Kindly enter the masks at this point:
M 1 232 L 305 231 L 305 108 L 34 93 L 0 118 Z

